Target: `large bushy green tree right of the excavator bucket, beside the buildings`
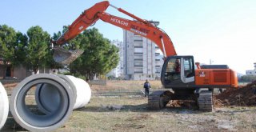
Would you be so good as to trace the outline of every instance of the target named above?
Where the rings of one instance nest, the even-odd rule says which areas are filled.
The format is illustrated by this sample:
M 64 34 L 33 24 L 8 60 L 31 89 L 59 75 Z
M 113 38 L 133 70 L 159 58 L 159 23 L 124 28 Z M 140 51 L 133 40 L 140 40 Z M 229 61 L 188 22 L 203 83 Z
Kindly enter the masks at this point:
M 85 30 L 69 42 L 69 48 L 83 49 L 84 53 L 70 64 L 70 72 L 93 78 L 95 74 L 106 74 L 118 65 L 118 48 L 96 28 Z

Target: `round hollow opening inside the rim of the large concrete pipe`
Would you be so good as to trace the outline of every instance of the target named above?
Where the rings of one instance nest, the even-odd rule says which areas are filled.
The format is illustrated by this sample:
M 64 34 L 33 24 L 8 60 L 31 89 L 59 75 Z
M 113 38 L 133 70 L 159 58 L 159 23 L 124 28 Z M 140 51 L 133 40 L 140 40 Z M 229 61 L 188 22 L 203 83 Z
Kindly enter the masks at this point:
M 58 103 L 54 107 L 51 107 L 51 112 L 47 113 L 39 109 L 38 104 L 34 102 L 34 97 L 30 95 L 30 92 L 35 90 L 37 86 L 49 86 L 54 91 L 53 101 L 58 100 Z M 30 91 L 31 90 L 31 91 Z M 22 119 L 33 126 L 51 126 L 57 122 L 60 122 L 64 118 L 66 111 L 69 109 L 70 102 L 68 93 L 58 82 L 49 79 L 37 79 L 27 83 L 19 91 L 17 96 L 16 105 L 18 114 L 22 115 Z M 57 97 L 57 98 L 55 98 Z M 43 101 L 42 101 L 43 102 Z M 43 103 L 42 103 L 43 104 Z M 47 110 L 47 109 L 46 109 Z

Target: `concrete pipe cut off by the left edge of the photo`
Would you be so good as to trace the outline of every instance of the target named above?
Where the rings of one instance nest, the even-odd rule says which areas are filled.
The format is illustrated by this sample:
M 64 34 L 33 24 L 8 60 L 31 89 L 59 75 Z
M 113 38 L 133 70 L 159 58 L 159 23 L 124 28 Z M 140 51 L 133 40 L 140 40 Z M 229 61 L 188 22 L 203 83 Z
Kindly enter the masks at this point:
M 5 88 L 0 82 L 0 130 L 5 125 L 9 112 L 9 101 Z

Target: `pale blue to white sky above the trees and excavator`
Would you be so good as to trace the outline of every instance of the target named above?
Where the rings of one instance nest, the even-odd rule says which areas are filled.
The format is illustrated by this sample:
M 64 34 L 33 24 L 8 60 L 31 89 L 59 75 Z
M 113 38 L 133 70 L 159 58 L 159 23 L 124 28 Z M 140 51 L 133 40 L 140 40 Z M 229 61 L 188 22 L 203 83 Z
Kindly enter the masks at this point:
M 99 0 L 2 0 L 0 25 L 26 31 L 41 26 L 49 34 L 70 25 Z M 110 4 L 142 19 L 160 22 L 178 55 L 194 55 L 195 62 L 226 64 L 241 74 L 256 62 L 255 0 L 110 0 Z M 129 18 L 109 7 L 107 13 Z M 131 18 L 129 18 L 131 19 Z M 105 38 L 123 40 L 122 29 L 99 20 Z

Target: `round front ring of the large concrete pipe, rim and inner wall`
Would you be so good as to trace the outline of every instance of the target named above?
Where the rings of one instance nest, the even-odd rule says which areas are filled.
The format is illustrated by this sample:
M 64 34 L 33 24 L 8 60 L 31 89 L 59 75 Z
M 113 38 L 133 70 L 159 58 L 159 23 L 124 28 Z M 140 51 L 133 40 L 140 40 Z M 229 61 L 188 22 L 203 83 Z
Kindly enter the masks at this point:
M 28 109 L 26 94 L 36 86 L 48 86 L 55 90 L 58 98 L 47 96 L 49 100 L 58 99 L 57 107 L 50 113 L 37 114 Z M 55 95 L 54 94 L 54 95 Z M 25 78 L 13 90 L 10 98 L 10 112 L 20 126 L 30 131 L 51 131 L 62 126 L 74 107 L 74 93 L 68 83 L 54 74 L 34 74 Z

